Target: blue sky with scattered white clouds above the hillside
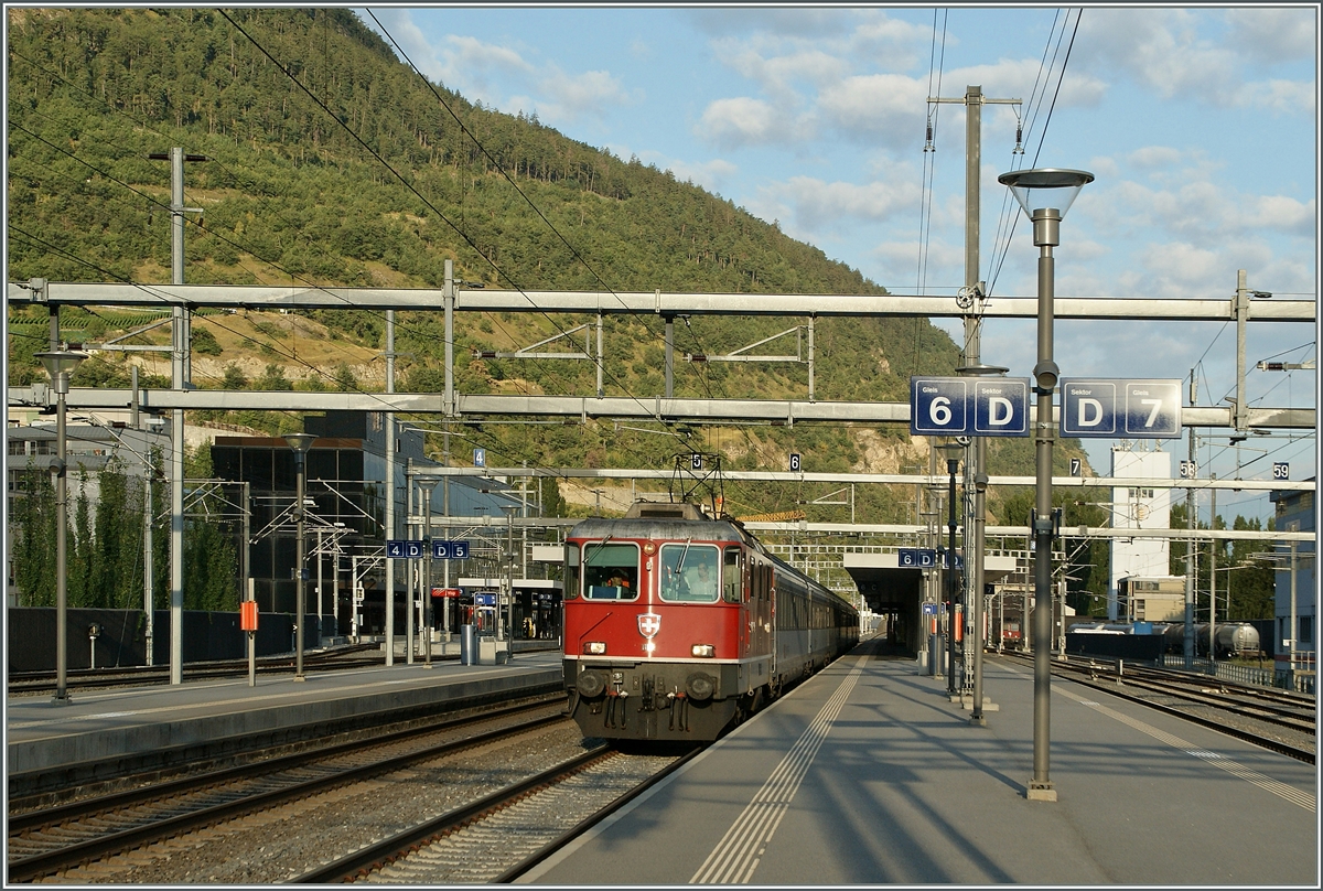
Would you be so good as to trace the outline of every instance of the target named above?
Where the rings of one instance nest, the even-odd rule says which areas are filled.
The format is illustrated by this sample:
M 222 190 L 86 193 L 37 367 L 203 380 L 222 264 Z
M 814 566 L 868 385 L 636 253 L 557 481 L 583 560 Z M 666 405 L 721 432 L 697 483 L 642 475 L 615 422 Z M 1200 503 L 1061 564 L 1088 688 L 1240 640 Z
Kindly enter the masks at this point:
M 980 85 L 1024 101 L 1023 156 L 1012 107 L 983 111 L 980 278 L 994 298 L 1036 293 L 1037 249 L 1023 220 L 1007 241 L 1016 205 L 996 176 L 1037 165 L 1097 176 L 1062 224 L 1058 297 L 1226 298 L 1245 269 L 1252 289 L 1316 299 L 1318 11 L 1078 11 L 373 7 L 425 74 L 466 98 L 671 169 L 893 293 L 963 283 L 964 110 L 926 99 Z M 958 322 L 942 327 L 959 335 Z M 1234 395 L 1222 323 L 1056 334 L 1064 375 L 1197 368 L 1199 404 Z M 1248 363 L 1314 359 L 1315 340 L 1315 326 L 1250 326 Z M 983 360 L 1027 376 L 1033 323 L 990 322 Z M 1248 381 L 1256 405 L 1316 401 L 1312 371 Z M 1089 442 L 1101 473 L 1110 445 Z M 1215 434 L 1200 463 L 1228 477 L 1238 459 L 1242 475 L 1267 478 L 1286 461 L 1302 479 L 1315 451 L 1314 437 L 1237 450 Z M 1218 507 L 1270 511 L 1249 494 Z

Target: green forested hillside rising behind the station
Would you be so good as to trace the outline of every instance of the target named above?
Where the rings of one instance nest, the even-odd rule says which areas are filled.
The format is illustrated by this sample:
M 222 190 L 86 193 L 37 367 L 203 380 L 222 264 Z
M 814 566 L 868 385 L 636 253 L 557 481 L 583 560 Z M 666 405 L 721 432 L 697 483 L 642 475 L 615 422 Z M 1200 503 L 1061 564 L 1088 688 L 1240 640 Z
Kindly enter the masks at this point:
M 467 282 L 504 289 L 884 294 L 857 270 L 786 237 L 775 224 L 619 159 L 536 119 L 501 114 L 429 85 L 347 9 L 8 9 L 9 281 L 169 281 L 169 165 L 181 146 L 185 281 L 435 287 L 445 261 Z M 397 391 L 441 389 L 439 314 L 398 314 Z M 65 311 L 69 340 L 105 339 L 149 312 Z M 462 315 L 462 392 L 591 395 L 589 363 L 476 359 L 554 336 L 589 319 Z M 42 379 L 32 353 L 45 314 L 9 310 L 9 381 Z M 677 322 L 677 350 L 742 348 L 803 319 Z M 606 392 L 663 392 L 659 319 L 609 318 Z M 384 314 L 204 314 L 194 334 L 198 387 L 365 389 L 384 385 Z M 159 328 L 136 339 L 163 343 Z M 792 353 L 794 338 L 769 346 Z M 582 343 L 582 342 L 581 342 Z M 923 319 L 823 319 L 819 400 L 904 401 L 913 373 L 951 373 L 958 350 Z M 99 353 L 75 385 L 123 385 L 127 364 L 163 385 L 152 353 Z M 677 396 L 807 397 L 802 364 L 681 364 Z M 205 421 L 196 417 L 194 421 Z M 288 430 L 292 416 L 229 416 Z M 437 418 L 419 418 L 435 424 Z M 493 465 L 668 467 L 673 454 L 721 450 L 729 466 L 918 470 L 926 447 L 898 426 L 859 429 L 626 429 L 500 424 L 464 441 Z M 659 436 L 664 433 L 664 436 Z M 995 442 L 990 471 L 1029 473 L 1025 441 Z M 456 450 L 456 454 L 460 451 Z M 1058 450 L 1065 461 L 1077 450 Z M 1064 466 L 1064 465 L 1062 465 Z M 827 487 L 830 489 L 830 487 Z M 786 510 L 824 491 L 728 487 L 740 514 Z M 848 518 L 820 507 L 814 519 Z M 861 520 L 914 518 L 912 487 L 859 491 Z M 1004 518 L 1020 522 L 1024 518 Z M 1081 520 L 1076 520 L 1081 522 Z

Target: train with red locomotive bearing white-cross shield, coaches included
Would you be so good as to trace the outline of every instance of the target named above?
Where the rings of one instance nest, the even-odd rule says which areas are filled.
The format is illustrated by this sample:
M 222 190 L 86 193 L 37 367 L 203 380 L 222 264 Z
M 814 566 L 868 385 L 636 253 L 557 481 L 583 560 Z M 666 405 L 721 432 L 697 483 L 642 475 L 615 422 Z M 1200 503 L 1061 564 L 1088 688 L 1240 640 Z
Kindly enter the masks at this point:
M 565 544 L 565 686 L 586 736 L 713 740 L 859 642 L 852 605 L 695 504 L 638 503 Z

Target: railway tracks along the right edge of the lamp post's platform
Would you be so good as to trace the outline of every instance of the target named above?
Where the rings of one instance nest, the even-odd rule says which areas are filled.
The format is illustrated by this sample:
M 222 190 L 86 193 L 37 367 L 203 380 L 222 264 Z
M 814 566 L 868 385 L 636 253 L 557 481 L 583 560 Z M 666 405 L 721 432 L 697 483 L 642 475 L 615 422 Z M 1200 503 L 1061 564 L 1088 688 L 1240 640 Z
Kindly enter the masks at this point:
M 1028 654 L 1007 653 L 1032 663 Z M 1312 696 L 1089 657 L 1052 662 L 1052 674 L 1140 703 L 1290 757 L 1315 763 Z

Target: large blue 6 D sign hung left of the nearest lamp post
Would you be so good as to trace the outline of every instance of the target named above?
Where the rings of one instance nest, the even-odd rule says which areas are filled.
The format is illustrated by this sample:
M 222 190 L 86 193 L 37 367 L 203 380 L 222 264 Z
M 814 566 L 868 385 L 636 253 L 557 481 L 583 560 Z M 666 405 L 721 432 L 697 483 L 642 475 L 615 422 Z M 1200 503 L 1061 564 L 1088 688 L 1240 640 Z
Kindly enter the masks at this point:
M 914 436 L 1028 436 L 1028 377 L 910 377 Z

